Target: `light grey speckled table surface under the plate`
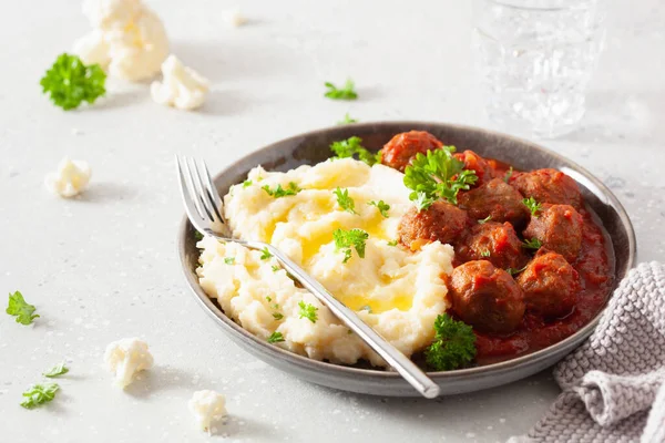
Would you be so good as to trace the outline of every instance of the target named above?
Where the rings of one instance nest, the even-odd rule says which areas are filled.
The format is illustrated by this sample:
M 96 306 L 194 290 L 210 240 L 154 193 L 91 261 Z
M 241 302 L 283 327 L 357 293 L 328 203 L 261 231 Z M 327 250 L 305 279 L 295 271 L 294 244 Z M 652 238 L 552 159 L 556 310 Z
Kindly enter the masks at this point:
M 437 401 L 338 392 L 245 353 L 190 296 L 175 254 L 183 215 L 175 153 L 204 157 L 218 171 L 346 112 L 361 121 L 491 127 L 471 100 L 468 2 L 249 1 L 242 11 L 250 23 L 233 29 L 224 13 L 238 3 L 151 2 L 173 52 L 213 82 L 194 113 L 153 103 L 146 84 L 119 81 L 94 107 L 52 106 L 38 82 L 89 30 L 79 1 L 2 3 L 0 295 L 21 290 L 41 318 L 23 327 L 0 313 L 0 441 L 501 442 L 526 432 L 559 392 L 549 370 Z M 582 130 L 543 142 L 616 193 L 635 225 L 640 260 L 664 253 L 658 3 L 616 2 Z M 349 75 L 357 102 L 321 96 L 325 81 Z M 64 155 L 93 168 L 89 190 L 72 200 L 43 186 Z M 150 343 L 155 367 L 122 392 L 102 353 L 110 341 L 133 336 Z M 55 401 L 20 408 L 24 388 L 63 359 L 71 372 Z M 201 389 L 227 396 L 231 420 L 221 435 L 194 426 L 187 401 Z

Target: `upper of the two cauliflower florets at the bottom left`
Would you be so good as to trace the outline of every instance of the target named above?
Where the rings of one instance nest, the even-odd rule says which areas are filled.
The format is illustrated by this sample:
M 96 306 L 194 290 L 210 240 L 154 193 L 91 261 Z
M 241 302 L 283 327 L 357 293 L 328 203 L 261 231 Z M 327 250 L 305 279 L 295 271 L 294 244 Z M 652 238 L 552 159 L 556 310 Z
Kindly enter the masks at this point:
M 147 343 L 133 338 L 109 343 L 104 352 L 104 362 L 109 371 L 115 373 L 117 385 L 125 388 L 137 372 L 151 369 L 154 360 Z

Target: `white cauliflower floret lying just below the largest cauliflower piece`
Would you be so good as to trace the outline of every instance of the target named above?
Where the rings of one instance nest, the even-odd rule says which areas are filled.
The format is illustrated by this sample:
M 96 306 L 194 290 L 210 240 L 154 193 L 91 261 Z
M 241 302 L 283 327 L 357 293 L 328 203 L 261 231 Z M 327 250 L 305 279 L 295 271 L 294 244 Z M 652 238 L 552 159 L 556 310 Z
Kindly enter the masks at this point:
M 161 82 L 153 82 L 150 92 L 156 103 L 178 110 L 193 110 L 203 104 L 208 91 L 208 81 L 194 70 L 183 65 L 175 55 L 162 63 Z

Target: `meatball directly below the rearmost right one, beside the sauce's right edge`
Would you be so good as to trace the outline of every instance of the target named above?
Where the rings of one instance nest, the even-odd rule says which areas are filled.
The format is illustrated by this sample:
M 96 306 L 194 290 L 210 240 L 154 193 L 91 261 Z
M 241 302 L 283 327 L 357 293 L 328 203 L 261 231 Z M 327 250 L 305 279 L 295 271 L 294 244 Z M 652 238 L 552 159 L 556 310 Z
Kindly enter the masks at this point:
M 582 216 L 574 207 L 544 204 L 531 217 L 522 234 L 524 238 L 538 238 L 543 247 L 574 262 L 582 248 L 583 224 Z

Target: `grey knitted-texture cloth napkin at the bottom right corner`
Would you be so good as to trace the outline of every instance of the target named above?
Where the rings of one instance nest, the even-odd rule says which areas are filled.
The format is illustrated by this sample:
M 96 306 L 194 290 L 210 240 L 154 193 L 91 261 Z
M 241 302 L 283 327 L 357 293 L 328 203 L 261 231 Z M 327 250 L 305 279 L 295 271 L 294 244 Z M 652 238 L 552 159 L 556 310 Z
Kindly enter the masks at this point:
M 631 270 L 554 379 L 548 414 L 509 442 L 665 442 L 665 265 Z

